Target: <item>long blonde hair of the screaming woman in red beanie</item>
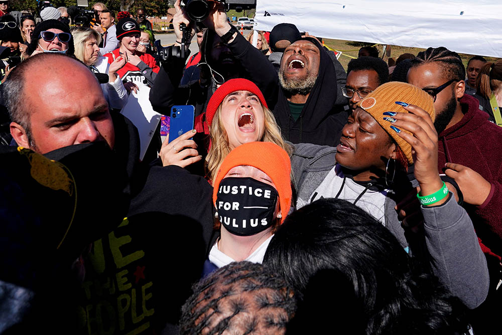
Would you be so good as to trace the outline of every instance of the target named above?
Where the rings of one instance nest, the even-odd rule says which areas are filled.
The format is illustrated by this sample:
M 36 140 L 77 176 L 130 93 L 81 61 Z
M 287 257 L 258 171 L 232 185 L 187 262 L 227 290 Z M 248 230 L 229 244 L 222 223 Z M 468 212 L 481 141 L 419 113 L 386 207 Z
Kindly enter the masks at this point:
M 206 175 L 209 180 L 214 180 L 218 169 L 225 159 L 225 157 L 230 153 L 230 145 L 228 143 L 228 135 L 226 134 L 225 128 L 221 121 L 221 105 L 216 109 L 215 118 L 209 128 L 209 135 L 211 137 L 211 149 L 206 156 Z M 291 155 L 292 148 L 288 145 L 281 136 L 281 130 L 277 125 L 276 119 L 272 114 L 272 111 L 263 106 L 263 114 L 265 115 L 265 132 L 263 137 L 259 139 L 261 142 L 272 142 L 283 148 L 288 155 Z

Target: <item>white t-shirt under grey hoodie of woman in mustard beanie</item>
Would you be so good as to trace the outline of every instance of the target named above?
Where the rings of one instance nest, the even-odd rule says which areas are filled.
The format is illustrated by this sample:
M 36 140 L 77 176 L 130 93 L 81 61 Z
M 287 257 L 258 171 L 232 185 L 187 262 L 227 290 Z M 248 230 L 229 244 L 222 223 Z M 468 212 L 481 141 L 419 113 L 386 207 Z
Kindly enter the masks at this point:
M 364 191 L 366 186 L 360 185 L 350 178 L 345 178 L 345 183 L 343 183 L 343 179 L 344 175 L 341 166 L 336 164 L 331 171 L 328 172 L 316 190 L 310 195 L 309 199 L 306 201 L 298 199 L 297 209 L 321 198 L 335 198 L 338 192 L 340 192 L 338 199 L 354 203 L 355 199 L 364 192 L 355 205 L 364 209 L 366 213 L 371 214 L 385 226 L 385 199 L 388 190 L 384 189 L 377 191 L 367 189 Z

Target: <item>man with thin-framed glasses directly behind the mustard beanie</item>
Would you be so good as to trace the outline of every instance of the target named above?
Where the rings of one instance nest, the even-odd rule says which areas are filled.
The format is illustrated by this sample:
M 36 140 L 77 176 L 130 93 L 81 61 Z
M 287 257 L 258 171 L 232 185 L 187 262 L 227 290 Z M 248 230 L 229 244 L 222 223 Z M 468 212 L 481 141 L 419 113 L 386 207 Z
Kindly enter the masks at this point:
M 357 102 L 389 81 L 389 67 L 380 58 L 361 56 L 352 59 L 347 66 L 347 82 L 342 94 L 347 97 L 350 112 Z

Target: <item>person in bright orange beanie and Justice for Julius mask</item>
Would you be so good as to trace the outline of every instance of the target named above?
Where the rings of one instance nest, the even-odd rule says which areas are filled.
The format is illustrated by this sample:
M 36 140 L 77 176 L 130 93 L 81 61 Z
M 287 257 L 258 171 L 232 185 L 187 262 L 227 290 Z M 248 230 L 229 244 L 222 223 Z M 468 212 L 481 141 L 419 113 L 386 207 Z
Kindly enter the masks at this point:
M 213 182 L 215 229 L 204 274 L 231 262 L 262 263 L 291 206 L 291 163 L 281 147 L 250 142 L 232 150 Z

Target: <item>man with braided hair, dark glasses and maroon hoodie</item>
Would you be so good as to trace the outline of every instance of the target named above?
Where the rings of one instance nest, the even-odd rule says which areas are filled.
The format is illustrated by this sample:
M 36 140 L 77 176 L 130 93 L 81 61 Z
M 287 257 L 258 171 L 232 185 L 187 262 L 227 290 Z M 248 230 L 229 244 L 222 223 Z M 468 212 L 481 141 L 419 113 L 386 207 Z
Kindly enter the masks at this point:
M 460 56 L 444 47 L 420 52 L 408 72 L 408 82 L 434 99 L 439 172 L 458 183 L 484 246 L 502 255 L 502 128 L 487 120 L 476 98 L 464 94 L 464 78 Z M 491 263 L 498 274 L 490 278 L 495 286 L 500 279 L 499 261 Z

